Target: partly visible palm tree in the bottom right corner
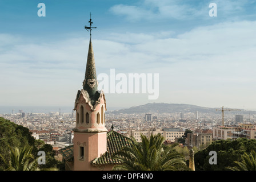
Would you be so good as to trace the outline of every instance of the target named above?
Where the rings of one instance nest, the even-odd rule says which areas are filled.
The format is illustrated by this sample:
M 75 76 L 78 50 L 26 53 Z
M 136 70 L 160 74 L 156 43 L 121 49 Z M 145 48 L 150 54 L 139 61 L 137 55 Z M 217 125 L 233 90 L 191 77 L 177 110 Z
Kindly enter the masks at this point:
M 232 171 L 256 171 L 256 152 L 253 150 L 250 154 L 245 153 L 242 155 L 242 162 L 235 161 L 237 166 L 227 167 Z

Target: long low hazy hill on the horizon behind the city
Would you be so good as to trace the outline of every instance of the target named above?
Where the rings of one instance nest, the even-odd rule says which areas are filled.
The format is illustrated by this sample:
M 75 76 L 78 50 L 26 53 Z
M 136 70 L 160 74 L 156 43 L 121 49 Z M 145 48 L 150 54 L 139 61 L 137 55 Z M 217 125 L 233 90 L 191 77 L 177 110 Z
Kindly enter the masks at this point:
M 114 114 L 143 114 L 143 113 L 195 113 L 195 111 L 199 111 L 199 113 L 216 113 L 216 109 L 218 108 L 210 108 L 210 107 L 201 107 L 189 104 L 166 104 L 166 103 L 149 103 L 141 106 L 133 106 L 128 109 L 120 109 L 111 111 Z M 241 113 L 241 111 L 239 111 Z M 252 111 L 255 113 L 255 111 Z M 244 112 L 243 112 L 244 113 Z M 242 114 L 242 113 L 241 113 Z

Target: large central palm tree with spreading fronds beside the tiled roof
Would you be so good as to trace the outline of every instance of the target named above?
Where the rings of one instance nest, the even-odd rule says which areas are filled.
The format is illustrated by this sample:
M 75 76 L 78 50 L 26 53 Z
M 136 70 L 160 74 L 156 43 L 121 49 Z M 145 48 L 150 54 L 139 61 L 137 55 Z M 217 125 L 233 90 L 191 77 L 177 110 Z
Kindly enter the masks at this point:
M 173 147 L 163 145 L 164 138 L 161 134 L 151 135 L 148 139 L 141 135 L 142 142 L 131 140 L 131 146 L 124 147 L 117 152 L 114 159 L 120 164 L 113 167 L 113 170 L 124 171 L 165 171 L 165 170 L 189 170 L 185 158 L 176 152 Z

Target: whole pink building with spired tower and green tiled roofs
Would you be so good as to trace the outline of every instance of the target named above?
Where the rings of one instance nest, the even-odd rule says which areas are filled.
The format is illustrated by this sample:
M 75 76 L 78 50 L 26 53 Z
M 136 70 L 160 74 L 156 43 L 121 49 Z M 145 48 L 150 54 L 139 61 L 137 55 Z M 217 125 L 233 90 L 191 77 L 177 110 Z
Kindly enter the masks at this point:
M 73 145 L 59 153 L 65 160 L 66 170 L 110 171 L 118 163 L 112 156 L 123 146 L 130 146 L 130 139 L 105 127 L 106 99 L 103 90 L 98 91 L 91 37 L 82 86 L 75 97 Z

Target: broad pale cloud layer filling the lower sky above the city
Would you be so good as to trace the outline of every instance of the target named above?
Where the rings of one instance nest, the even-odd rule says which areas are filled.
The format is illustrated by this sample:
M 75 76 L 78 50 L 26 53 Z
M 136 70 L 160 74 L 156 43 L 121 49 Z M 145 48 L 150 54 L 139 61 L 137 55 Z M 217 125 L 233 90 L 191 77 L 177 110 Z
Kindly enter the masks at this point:
M 161 91 L 156 102 L 235 105 L 236 96 L 237 103 L 253 108 L 254 27 L 256 22 L 241 21 L 201 26 L 175 36 L 165 31 L 113 33 L 105 39 L 93 39 L 97 73 L 109 74 L 111 68 L 125 74 L 159 73 Z M 0 35 L 0 39 L 5 40 L 0 45 L 1 86 L 5 88 L 0 90 L 1 103 L 10 104 L 11 97 L 14 105 L 23 99 L 33 105 L 38 94 L 44 105 L 74 102 L 82 86 L 89 40 L 26 42 L 25 37 L 9 34 Z M 121 99 L 118 94 L 108 95 L 111 103 L 117 97 Z M 123 98 L 133 100 L 134 96 Z M 148 102 L 146 96 L 138 98 L 138 103 L 144 102 Z

